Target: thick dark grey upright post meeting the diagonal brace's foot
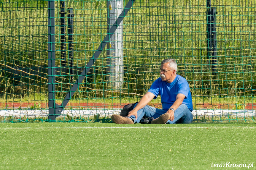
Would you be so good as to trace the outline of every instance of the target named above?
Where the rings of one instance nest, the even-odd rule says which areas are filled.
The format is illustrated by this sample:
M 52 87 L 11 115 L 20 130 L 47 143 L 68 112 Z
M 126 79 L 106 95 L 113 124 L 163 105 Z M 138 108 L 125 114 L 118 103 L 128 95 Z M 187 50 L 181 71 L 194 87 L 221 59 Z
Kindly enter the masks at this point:
M 49 120 L 55 120 L 55 23 L 54 0 L 48 1 L 48 106 Z

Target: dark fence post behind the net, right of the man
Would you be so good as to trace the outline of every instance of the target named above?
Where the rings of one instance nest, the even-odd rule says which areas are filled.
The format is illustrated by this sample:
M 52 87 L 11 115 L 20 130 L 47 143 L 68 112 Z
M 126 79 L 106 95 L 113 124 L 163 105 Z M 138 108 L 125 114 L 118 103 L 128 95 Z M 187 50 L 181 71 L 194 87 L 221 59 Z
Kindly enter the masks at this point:
M 217 36 L 216 36 L 216 8 L 211 7 L 211 0 L 207 0 L 207 52 L 212 62 L 213 75 L 217 74 Z

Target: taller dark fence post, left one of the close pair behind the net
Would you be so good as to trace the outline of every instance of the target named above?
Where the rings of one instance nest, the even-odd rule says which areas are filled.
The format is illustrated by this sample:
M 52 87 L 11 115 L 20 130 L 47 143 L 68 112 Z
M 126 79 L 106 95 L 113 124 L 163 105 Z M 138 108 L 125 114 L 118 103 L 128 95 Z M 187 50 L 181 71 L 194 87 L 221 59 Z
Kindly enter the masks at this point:
M 65 23 L 65 1 L 61 0 L 61 67 L 64 67 L 66 64 L 66 23 Z

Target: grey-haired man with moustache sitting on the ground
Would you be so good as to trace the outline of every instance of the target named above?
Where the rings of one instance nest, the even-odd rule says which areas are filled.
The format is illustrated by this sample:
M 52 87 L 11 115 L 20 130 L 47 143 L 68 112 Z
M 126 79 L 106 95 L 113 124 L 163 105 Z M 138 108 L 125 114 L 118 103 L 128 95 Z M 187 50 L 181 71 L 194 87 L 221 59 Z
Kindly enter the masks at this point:
M 143 116 L 154 117 L 152 124 L 191 123 L 193 119 L 192 97 L 187 80 L 176 75 L 177 63 L 165 59 L 161 63 L 160 77 L 153 82 L 148 92 L 141 98 L 128 116 L 112 115 L 116 124 L 139 123 Z M 153 98 L 161 96 L 163 109 L 148 106 Z

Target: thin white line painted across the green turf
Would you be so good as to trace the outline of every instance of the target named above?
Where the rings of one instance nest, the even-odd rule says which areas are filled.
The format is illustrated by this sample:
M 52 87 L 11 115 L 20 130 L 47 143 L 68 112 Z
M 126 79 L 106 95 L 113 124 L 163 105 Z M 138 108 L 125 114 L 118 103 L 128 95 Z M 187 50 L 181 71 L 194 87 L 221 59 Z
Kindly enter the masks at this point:
M 243 127 L 243 126 L 233 126 L 233 127 L 2 127 L 0 129 L 144 129 L 144 128 L 256 128 L 256 127 Z

